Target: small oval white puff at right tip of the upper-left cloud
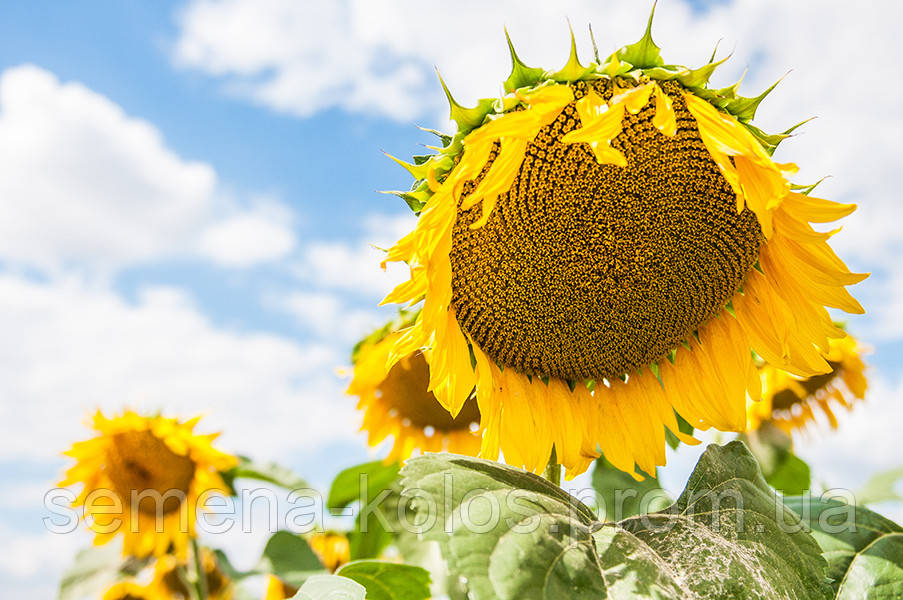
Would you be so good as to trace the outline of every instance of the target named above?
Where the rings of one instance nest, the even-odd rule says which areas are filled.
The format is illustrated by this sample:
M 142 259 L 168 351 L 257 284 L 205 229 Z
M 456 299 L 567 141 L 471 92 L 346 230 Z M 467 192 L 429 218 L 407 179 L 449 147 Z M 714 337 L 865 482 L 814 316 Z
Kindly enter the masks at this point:
M 201 233 L 201 255 L 227 267 L 250 267 L 285 258 L 297 243 L 286 224 L 289 215 L 269 212 L 249 211 L 214 223 Z

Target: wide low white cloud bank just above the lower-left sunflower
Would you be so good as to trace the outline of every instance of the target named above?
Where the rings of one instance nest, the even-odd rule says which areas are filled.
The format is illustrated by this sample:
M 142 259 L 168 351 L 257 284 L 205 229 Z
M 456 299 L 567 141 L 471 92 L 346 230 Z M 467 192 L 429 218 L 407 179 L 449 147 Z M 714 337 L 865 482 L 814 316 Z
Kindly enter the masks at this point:
M 49 460 L 87 433 L 95 406 L 205 416 L 222 443 L 257 457 L 353 439 L 331 347 L 212 324 L 179 290 L 129 304 L 78 279 L 0 276 L 0 457 Z

